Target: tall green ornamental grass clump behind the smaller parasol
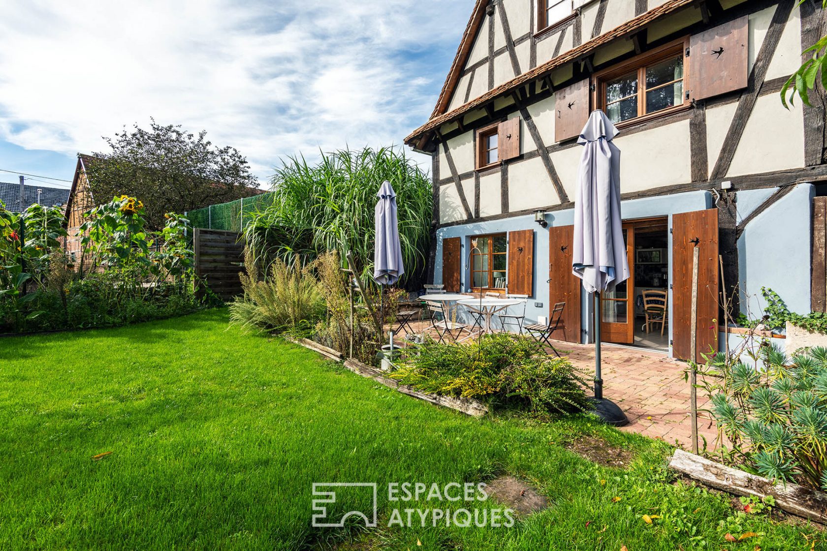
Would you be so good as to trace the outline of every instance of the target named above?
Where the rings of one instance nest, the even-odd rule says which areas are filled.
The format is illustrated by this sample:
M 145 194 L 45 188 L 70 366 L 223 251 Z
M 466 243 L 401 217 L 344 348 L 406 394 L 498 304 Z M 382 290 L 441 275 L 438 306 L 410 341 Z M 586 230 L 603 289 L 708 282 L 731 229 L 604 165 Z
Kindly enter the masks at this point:
M 373 271 L 376 192 L 388 180 L 399 207 L 399 240 L 406 277 L 422 283 L 430 240 L 433 199 L 428 176 L 404 150 L 365 148 L 323 153 L 317 164 L 292 157 L 276 170 L 274 192 L 246 216 L 246 243 L 264 265 L 297 257 L 312 260 L 327 251 L 340 258 L 350 250 L 363 275 Z

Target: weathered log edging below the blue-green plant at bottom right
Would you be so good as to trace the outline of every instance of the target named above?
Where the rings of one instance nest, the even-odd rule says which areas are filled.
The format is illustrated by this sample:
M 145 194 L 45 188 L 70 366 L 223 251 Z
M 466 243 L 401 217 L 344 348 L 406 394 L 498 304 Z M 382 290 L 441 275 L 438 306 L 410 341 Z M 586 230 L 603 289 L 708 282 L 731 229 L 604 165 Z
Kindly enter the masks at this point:
M 764 477 L 745 473 L 737 468 L 715 463 L 700 455 L 676 449 L 669 468 L 684 473 L 707 486 L 733 493 L 736 496 L 773 496 L 776 506 L 793 515 L 810 520 L 827 520 L 827 494 L 798 484 L 774 484 Z

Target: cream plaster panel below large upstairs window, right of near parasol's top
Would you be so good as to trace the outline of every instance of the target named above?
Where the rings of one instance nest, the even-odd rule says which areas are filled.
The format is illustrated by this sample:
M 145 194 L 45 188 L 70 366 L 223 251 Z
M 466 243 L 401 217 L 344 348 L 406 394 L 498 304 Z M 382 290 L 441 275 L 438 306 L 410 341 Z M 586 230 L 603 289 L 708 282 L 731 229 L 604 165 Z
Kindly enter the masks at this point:
M 691 181 L 689 121 L 614 138 L 620 148 L 620 192 Z

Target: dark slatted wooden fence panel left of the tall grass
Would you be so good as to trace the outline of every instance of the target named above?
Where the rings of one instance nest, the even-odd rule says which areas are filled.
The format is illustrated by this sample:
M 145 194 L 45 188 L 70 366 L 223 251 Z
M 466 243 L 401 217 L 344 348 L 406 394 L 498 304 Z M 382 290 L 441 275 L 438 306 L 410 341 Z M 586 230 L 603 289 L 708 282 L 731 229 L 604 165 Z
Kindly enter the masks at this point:
M 195 273 L 226 302 L 241 294 L 238 273 L 244 271 L 244 241 L 235 231 L 196 228 L 193 235 Z

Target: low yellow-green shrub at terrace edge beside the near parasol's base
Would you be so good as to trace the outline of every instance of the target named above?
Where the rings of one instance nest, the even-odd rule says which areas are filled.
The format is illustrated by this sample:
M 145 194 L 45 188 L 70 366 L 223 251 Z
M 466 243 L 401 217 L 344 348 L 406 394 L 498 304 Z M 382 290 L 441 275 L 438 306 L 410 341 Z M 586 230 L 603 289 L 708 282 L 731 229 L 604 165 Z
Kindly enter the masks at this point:
M 586 408 L 586 379 L 568 361 L 538 349 L 529 337 L 485 335 L 478 342 L 427 340 L 391 378 L 421 392 L 570 413 Z

